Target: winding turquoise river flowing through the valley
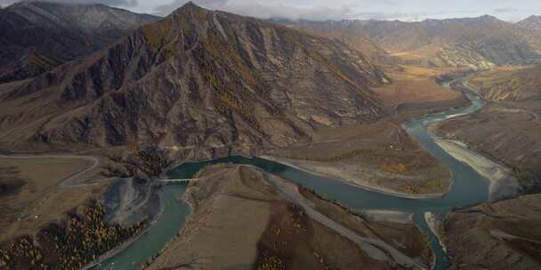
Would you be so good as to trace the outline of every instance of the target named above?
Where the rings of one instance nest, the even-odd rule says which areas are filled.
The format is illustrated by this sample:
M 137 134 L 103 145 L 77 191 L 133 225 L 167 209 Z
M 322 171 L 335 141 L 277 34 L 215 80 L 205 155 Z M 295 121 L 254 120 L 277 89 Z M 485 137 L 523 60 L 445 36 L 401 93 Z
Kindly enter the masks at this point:
M 327 178 L 300 171 L 287 165 L 262 158 L 230 156 L 208 162 L 183 163 L 169 172 L 171 179 L 190 179 L 196 171 L 212 163 L 250 164 L 264 171 L 288 179 L 304 187 L 313 188 L 321 195 L 335 199 L 357 210 L 400 210 L 413 213 L 413 219 L 425 234 L 428 234 L 435 254 L 433 269 L 447 269 L 448 256 L 440 246 L 438 238 L 432 234 L 425 221 L 424 214 L 432 212 L 444 216 L 455 207 L 483 203 L 489 199 L 489 181 L 474 171 L 469 165 L 459 162 L 435 143 L 437 137 L 427 130 L 427 125 L 437 123 L 458 115 L 467 115 L 483 107 L 483 101 L 472 94 L 466 94 L 471 104 L 447 113 L 428 115 L 416 119 L 404 127 L 409 135 L 416 139 L 427 151 L 444 163 L 453 175 L 453 185 L 447 195 L 431 199 L 408 199 L 393 195 L 384 195 L 355 187 L 336 179 Z M 190 214 L 190 206 L 178 200 L 185 191 L 185 186 L 166 186 L 162 191 L 164 211 L 149 230 L 125 250 L 104 260 L 94 269 L 139 269 L 149 259 L 155 257 L 167 242 L 182 228 Z

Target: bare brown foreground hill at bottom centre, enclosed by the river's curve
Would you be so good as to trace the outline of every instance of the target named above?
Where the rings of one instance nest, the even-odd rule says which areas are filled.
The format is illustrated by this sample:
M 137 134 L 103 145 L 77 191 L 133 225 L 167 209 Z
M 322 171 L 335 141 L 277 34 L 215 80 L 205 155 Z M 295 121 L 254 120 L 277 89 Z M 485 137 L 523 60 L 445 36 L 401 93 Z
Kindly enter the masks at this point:
M 431 261 L 412 223 L 355 216 L 251 167 L 200 175 L 186 193 L 193 214 L 149 269 L 392 269 Z

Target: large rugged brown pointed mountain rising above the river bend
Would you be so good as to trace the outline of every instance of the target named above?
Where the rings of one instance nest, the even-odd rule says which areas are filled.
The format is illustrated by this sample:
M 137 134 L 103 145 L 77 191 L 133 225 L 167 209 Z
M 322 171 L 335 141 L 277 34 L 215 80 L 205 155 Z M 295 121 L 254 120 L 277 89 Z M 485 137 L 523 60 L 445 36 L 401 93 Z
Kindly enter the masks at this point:
M 289 145 L 385 115 L 384 74 L 343 43 L 186 4 L 108 49 L 0 87 L 0 140 Z M 9 108 L 9 109 L 7 109 Z

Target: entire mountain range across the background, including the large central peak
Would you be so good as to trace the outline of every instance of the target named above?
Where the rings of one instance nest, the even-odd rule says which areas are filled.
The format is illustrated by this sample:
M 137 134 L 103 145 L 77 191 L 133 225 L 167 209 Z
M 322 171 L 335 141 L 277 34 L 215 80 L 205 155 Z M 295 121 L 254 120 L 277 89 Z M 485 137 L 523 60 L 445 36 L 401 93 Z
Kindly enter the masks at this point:
M 294 22 L 189 3 L 159 20 L 43 2 L 0 14 L 2 81 L 26 79 L 0 84 L 0 142 L 8 145 L 287 146 L 311 140 L 319 126 L 387 115 L 372 91 L 390 83 L 387 65 L 539 60 L 536 17 Z

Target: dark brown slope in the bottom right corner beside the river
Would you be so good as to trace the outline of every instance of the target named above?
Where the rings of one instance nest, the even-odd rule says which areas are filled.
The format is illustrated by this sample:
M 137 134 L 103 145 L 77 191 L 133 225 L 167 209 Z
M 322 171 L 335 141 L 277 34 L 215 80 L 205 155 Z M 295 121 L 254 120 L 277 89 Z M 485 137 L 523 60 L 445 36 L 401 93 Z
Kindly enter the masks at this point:
M 455 210 L 443 226 L 450 269 L 538 269 L 540 195 Z

